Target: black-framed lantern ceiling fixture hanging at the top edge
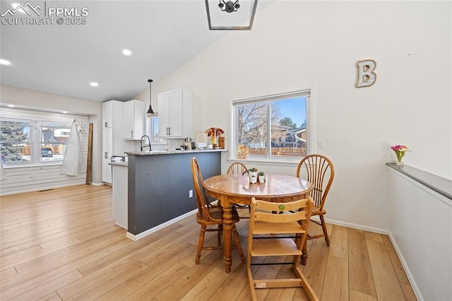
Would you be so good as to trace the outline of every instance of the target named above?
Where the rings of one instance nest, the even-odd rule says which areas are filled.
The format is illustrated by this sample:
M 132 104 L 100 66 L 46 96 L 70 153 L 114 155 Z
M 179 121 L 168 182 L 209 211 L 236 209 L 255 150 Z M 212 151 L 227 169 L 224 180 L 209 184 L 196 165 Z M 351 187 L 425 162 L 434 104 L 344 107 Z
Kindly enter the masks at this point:
M 213 4 L 211 5 L 212 10 L 210 10 L 209 2 L 212 3 L 216 0 L 205 1 L 209 30 L 251 30 L 258 0 L 219 0 L 218 8 L 220 9 Z M 249 16 L 246 13 L 248 10 L 250 11 Z M 227 14 L 222 13 L 224 11 Z M 243 25 L 245 21 L 247 25 Z

